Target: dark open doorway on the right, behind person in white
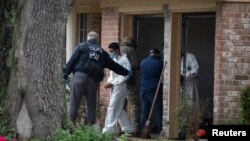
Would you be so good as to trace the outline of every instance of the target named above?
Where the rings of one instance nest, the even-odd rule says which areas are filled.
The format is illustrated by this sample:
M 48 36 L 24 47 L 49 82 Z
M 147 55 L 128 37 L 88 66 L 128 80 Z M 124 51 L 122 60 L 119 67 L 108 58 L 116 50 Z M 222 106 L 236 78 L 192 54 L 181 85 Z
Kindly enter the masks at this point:
M 207 101 L 205 118 L 213 117 L 215 13 L 183 14 L 182 51 L 194 54 L 199 64 L 200 101 Z

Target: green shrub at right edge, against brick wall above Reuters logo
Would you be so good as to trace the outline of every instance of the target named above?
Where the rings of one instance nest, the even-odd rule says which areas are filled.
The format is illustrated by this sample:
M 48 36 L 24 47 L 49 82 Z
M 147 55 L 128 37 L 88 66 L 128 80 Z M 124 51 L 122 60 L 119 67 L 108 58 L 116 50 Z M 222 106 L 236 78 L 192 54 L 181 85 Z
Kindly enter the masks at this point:
M 242 122 L 250 124 L 250 86 L 241 90 L 241 118 Z

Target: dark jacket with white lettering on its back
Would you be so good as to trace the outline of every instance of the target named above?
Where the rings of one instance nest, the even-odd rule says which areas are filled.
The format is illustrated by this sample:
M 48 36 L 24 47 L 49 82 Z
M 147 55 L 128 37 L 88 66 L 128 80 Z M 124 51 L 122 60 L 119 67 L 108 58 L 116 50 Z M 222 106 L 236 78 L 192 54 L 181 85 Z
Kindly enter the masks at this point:
M 117 74 L 126 76 L 129 71 L 110 58 L 109 54 L 97 45 L 95 40 L 90 40 L 86 43 L 80 43 L 71 58 L 64 67 L 64 78 L 73 72 L 83 72 L 85 73 L 84 66 L 89 59 L 95 59 L 98 65 L 104 68 L 108 68 Z

